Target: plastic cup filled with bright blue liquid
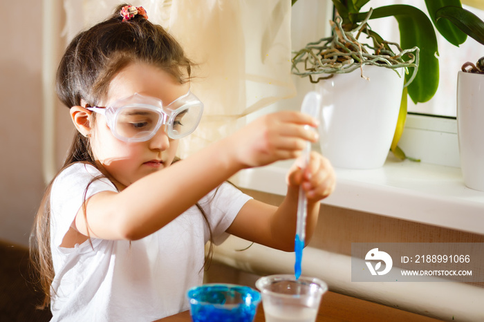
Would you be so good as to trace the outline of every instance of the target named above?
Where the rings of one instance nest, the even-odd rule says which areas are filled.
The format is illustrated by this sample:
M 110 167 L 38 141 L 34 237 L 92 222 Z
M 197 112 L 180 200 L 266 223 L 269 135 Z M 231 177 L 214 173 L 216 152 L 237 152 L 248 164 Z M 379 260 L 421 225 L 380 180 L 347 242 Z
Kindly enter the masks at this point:
M 194 322 L 252 322 L 261 294 L 248 286 L 205 284 L 188 290 Z

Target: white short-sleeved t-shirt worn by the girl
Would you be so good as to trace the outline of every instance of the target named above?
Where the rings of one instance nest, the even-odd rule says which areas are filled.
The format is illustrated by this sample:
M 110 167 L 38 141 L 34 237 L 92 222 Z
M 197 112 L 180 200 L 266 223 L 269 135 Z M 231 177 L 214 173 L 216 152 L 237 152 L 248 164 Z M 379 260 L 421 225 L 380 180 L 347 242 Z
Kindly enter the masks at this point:
M 140 240 L 91 238 L 74 248 L 60 247 L 82 206 L 87 184 L 101 173 L 73 164 L 55 179 L 50 193 L 50 248 L 55 278 L 51 321 L 153 321 L 189 310 L 187 290 L 203 283 L 207 225 L 196 206 Z M 89 186 L 86 199 L 117 191 L 106 178 Z M 224 183 L 200 200 L 215 243 L 227 237 L 241 207 L 250 199 Z M 176 200 L 174 200 L 176 202 Z

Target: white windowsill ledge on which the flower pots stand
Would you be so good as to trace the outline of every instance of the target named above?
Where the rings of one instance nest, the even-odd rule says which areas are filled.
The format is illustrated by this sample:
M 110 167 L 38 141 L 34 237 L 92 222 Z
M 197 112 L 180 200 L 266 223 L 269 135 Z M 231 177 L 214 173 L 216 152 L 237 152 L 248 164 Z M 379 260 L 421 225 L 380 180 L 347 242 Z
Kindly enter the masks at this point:
M 292 161 L 241 171 L 241 188 L 286 194 Z M 400 162 L 389 156 L 384 167 L 335 169 L 337 187 L 323 204 L 429 225 L 484 234 L 484 192 L 463 184 L 460 168 Z

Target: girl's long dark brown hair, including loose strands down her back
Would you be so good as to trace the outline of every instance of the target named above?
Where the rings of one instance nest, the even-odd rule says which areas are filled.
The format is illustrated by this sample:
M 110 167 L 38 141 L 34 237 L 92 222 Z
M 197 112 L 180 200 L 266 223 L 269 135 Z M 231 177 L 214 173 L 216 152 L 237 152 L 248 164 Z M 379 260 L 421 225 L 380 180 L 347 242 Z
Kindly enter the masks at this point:
M 180 84 L 189 80 L 192 61 L 185 57 L 180 44 L 165 29 L 149 22 L 142 15 L 135 15 L 127 21 L 122 21 L 120 10 L 124 6 L 127 5 L 122 4 L 115 8 L 109 19 L 80 32 L 66 48 L 57 69 L 56 90 L 59 99 L 68 108 L 81 105 L 81 100 L 89 106 L 98 105 L 101 100 L 106 99 L 113 77 L 122 68 L 136 62 L 161 68 Z M 106 176 L 104 169 L 100 169 L 95 162 L 89 138 L 85 138 L 79 132 L 75 134 L 71 149 L 59 173 L 75 162 L 91 164 Z M 109 178 L 109 176 L 106 177 Z M 50 285 L 54 278 L 50 252 L 52 184 L 53 180 L 46 187 L 30 235 L 31 263 L 35 273 L 39 274 L 36 280 L 39 281 L 41 290 L 45 294 L 41 308 L 47 307 L 50 302 Z M 203 209 L 199 205 L 197 207 L 202 211 L 208 225 Z M 85 208 L 84 216 L 86 216 Z M 210 241 L 212 241 L 212 230 L 210 225 L 208 227 Z M 212 247 L 210 247 L 211 250 Z M 210 257 L 211 252 L 208 255 L 208 258 Z M 205 267 L 206 265 L 207 261 L 205 261 Z

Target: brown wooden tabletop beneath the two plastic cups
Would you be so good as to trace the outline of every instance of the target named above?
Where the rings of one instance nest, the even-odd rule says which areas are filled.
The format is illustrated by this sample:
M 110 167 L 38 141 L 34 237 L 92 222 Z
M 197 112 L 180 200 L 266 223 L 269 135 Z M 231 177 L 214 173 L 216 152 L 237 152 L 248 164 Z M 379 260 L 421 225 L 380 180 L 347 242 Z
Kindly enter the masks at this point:
M 189 322 L 189 311 L 181 312 L 176 315 L 168 316 L 159 322 Z M 356 299 L 334 292 L 326 292 L 323 296 L 322 303 L 319 305 L 319 312 L 316 321 L 325 322 L 436 322 L 440 320 L 431 319 L 427 316 L 421 316 L 407 311 L 398 310 L 397 308 L 386 305 L 373 303 Z M 257 308 L 257 314 L 254 322 L 265 322 L 262 305 Z

